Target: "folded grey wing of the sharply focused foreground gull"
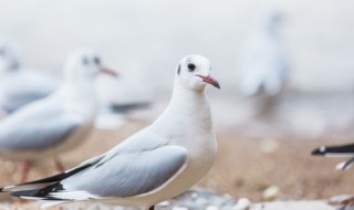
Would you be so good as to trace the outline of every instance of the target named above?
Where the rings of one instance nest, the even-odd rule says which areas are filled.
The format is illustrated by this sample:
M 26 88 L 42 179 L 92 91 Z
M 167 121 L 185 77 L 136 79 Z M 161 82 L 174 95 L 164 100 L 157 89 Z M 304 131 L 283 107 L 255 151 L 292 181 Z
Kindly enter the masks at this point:
M 58 199 L 83 197 L 134 197 L 148 193 L 167 182 L 184 168 L 187 150 L 178 146 L 164 146 L 154 150 L 121 154 L 103 165 L 76 174 L 61 183 L 63 191 L 53 192 Z M 71 197 L 71 196 L 74 197 Z

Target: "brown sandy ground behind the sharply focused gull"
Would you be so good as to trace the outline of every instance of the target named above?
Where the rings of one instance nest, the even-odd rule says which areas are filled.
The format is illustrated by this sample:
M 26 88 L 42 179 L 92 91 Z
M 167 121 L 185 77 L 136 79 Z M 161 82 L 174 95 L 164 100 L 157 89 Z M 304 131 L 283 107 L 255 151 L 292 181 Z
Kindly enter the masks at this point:
M 96 130 L 80 149 L 62 156 L 66 168 L 106 151 L 121 139 L 144 126 L 145 123 L 129 123 L 117 132 Z M 311 157 L 312 148 L 332 139 L 273 139 L 273 153 L 262 151 L 263 139 L 248 136 L 233 129 L 218 134 L 218 157 L 211 171 L 199 183 L 200 187 L 229 193 L 236 199 L 250 198 L 261 201 L 262 191 L 278 186 L 283 199 L 325 199 L 340 193 L 351 193 L 354 183 L 353 171 L 335 171 L 341 159 Z M 344 143 L 345 140 L 343 140 Z M 18 182 L 19 171 L 12 164 L 1 161 L 0 185 Z M 52 161 L 39 162 L 30 179 L 54 174 Z M 9 200 L 8 197 L 2 197 Z

